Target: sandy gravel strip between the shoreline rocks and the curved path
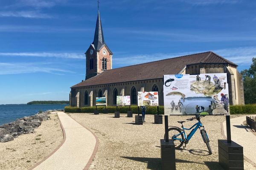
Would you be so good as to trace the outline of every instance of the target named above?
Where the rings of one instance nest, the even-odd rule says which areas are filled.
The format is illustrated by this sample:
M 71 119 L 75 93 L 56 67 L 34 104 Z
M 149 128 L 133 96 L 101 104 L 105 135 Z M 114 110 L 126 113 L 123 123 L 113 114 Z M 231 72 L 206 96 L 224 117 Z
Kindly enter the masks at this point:
M 35 133 L 0 143 L 0 170 L 27 170 L 58 147 L 63 140 L 61 125 L 56 113 L 49 116 Z

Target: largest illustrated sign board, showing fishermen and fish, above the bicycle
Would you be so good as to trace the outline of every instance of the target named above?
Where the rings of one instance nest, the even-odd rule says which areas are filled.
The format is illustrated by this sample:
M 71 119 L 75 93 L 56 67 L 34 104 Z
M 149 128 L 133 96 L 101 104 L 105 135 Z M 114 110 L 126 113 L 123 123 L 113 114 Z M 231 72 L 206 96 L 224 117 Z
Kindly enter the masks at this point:
M 226 73 L 164 75 L 165 115 L 229 114 Z

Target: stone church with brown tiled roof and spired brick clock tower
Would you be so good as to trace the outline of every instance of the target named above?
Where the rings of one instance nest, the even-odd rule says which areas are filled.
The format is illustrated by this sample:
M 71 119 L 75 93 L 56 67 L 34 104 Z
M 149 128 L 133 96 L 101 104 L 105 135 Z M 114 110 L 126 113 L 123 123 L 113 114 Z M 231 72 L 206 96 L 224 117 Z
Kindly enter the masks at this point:
M 131 96 L 131 105 L 137 105 L 138 91 L 158 91 L 159 105 L 163 105 L 163 75 L 209 73 L 227 73 L 230 105 L 244 104 L 238 65 L 212 51 L 112 69 L 113 53 L 104 40 L 99 11 L 85 56 L 85 80 L 71 87 L 71 106 L 95 106 L 96 97 L 106 97 L 107 105 L 115 106 L 116 96 Z

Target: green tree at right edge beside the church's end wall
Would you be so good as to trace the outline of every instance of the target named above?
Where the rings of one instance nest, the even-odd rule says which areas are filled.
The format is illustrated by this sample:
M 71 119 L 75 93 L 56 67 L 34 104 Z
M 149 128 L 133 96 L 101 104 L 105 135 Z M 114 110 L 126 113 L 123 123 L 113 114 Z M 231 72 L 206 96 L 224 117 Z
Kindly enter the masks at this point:
M 256 103 L 256 58 L 253 58 L 253 63 L 249 70 L 241 71 L 244 81 L 244 102 L 245 104 Z

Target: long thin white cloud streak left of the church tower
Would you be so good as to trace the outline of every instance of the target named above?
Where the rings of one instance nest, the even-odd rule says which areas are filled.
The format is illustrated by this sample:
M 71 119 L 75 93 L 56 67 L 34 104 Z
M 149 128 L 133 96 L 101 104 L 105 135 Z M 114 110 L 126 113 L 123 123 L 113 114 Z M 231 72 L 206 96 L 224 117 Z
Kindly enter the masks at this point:
M 84 54 L 78 53 L 48 53 L 48 52 L 24 52 L 24 53 L 0 53 L 0 56 L 20 56 L 20 57 L 55 57 L 55 58 L 71 58 L 85 59 Z

